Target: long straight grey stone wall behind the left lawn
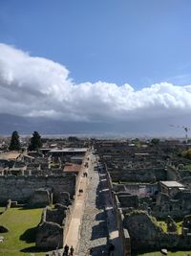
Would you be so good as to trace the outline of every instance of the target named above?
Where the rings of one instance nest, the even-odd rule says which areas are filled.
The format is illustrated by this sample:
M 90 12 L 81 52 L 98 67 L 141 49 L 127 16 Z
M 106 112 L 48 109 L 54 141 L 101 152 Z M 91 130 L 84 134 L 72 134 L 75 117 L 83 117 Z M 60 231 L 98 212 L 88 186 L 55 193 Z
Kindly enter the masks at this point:
M 75 175 L 61 176 L 0 176 L 0 203 L 8 199 L 29 202 L 35 190 L 53 189 L 53 202 L 57 202 L 59 193 L 68 192 L 74 198 Z

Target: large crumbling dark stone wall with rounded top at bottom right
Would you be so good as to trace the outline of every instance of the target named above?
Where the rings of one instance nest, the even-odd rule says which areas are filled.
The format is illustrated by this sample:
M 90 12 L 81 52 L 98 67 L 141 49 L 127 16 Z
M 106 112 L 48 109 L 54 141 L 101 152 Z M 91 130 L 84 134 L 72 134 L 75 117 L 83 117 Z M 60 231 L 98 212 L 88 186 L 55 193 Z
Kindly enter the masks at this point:
M 126 214 L 124 227 L 127 228 L 132 250 L 149 251 L 162 247 L 167 249 L 191 249 L 191 235 L 164 232 L 155 218 L 143 211 Z

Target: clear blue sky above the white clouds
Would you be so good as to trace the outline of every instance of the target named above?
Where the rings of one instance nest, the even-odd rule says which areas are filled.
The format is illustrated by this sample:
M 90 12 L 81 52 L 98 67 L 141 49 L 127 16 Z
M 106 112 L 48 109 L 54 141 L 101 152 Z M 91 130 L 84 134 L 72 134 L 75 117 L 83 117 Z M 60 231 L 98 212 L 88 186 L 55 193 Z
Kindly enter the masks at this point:
M 0 0 L 0 42 L 77 83 L 191 83 L 190 0 Z

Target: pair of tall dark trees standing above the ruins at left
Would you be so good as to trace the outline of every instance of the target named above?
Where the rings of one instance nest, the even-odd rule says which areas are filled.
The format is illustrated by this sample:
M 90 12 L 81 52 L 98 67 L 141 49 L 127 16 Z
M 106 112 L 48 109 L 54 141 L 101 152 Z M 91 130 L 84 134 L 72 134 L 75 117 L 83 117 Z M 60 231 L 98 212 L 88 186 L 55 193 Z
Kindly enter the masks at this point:
M 37 131 L 33 131 L 32 138 L 30 139 L 29 151 L 37 151 L 42 147 L 41 136 Z M 19 140 L 19 135 L 16 130 L 14 130 L 11 134 L 11 143 L 9 147 L 10 151 L 20 151 L 21 144 Z

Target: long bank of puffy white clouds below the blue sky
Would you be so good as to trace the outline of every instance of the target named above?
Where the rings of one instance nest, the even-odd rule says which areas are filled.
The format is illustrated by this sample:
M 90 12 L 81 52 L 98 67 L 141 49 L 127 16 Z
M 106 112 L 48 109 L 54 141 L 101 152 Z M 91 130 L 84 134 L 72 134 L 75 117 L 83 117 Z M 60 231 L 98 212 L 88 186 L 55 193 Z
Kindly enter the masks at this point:
M 160 82 L 76 84 L 69 70 L 0 44 L 0 113 L 69 121 L 114 122 L 181 116 L 191 111 L 191 85 Z

